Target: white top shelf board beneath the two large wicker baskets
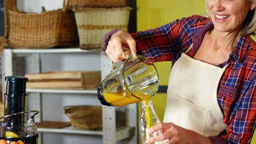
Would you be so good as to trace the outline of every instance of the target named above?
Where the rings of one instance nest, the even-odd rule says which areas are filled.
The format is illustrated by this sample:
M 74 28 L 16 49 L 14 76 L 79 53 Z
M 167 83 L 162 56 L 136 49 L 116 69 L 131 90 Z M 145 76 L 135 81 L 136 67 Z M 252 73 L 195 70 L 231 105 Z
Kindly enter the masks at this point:
M 82 50 L 80 48 L 66 48 L 66 49 L 11 49 L 13 53 L 81 53 L 81 52 L 101 52 L 101 49 L 95 50 Z

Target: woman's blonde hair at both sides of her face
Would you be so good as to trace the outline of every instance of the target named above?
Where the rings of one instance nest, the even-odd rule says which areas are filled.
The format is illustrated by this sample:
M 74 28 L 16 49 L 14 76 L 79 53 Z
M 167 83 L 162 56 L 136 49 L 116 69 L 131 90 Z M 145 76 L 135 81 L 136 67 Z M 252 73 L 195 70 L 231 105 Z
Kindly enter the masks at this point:
M 256 5 L 256 0 L 246 0 L 252 3 L 255 3 Z M 210 17 L 210 10 L 207 8 L 206 1 L 205 1 L 205 8 L 206 8 L 206 17 Z M 242 27 L 242 36 L 245 36 L 247 34 L 250 35 L 255 35 L 255 30 L 256 30 L 256 14 L 255 14 L 255 8 L 253 10 L 249 10 L 248 14 L 246 16 L 246 19 L 243 23 Z

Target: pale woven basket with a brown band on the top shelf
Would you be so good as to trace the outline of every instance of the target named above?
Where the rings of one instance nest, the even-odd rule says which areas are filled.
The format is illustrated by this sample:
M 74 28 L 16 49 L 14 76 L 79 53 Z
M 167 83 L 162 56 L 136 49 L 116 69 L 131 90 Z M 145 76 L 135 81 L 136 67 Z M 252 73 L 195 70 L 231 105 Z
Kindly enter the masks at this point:
M 104 35 L 114 28 L 127 31 L 131 9 L 130 7 L 73 9 L 80 48 L 100 48 Z

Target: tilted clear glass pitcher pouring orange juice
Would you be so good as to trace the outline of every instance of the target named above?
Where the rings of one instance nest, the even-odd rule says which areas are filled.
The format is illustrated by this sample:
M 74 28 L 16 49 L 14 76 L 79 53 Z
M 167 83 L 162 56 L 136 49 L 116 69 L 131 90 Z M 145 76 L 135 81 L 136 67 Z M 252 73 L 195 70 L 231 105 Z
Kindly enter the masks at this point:
M 149 100 L 158 91 L 159 76 L 155 65 L 141 55 L 129 55 L 97 89 L 101 104 L 124 106 Z

